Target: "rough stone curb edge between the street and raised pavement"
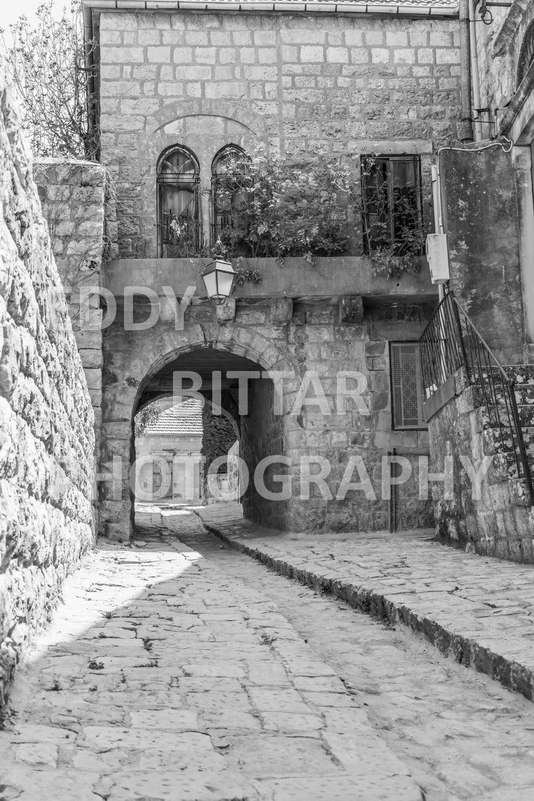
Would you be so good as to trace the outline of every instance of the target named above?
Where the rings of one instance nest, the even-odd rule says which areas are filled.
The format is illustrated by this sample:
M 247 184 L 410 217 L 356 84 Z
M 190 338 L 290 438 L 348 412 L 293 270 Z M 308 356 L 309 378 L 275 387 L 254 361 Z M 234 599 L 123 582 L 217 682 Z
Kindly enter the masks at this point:
M 231 548 L 245 553 L 271 570 L 275 570 L 276 573 L 295 579 L 313 590 L 332 594 L 335 598 L 347 602 L 354 609 L 370 614 L 388 625 L 395 626 L 400 623 L 416 634 L 422 635 L 444 656 L 454 659 L 460 665 L 474 668 L 474 670 L 500 682 L 508 690 L 519 692 L 529 701 L 534 701 L 534 670 L 532 668 L 508 658 L 504 654 L 497 654 L 494 650 L 476 642 L 475 639 L 445 628 L 428 615 L 416 612 L 405 604 L 396 603 L 392 598 L 388 598 L 387 594 L 380 593 L 379 590 L 373 590 L 363 584 L 356 586 L 339 578 L 329 578 L 327 575 L 320 575 L 306 567 L 292 565 L 286 559 L 272 557 L 260 548 L 247 545 L 247 541 L 239 536 L 228 534 L 223 522 L 203 519 L 200 514 L 199 517 L 204 528 L 215 537 L 219 537 Z M 235 527 L 236 524 L 239 525 L 239 522 L 241 521 L 232 523 L 232 527 Z

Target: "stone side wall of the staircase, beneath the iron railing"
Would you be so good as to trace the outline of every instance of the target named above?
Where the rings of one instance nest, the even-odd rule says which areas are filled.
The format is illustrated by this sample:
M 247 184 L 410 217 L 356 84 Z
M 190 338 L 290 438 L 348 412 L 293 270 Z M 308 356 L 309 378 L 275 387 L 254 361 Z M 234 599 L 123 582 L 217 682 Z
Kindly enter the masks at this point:
M 433 484 L 437 536 L 469 553 L 534 562 L 534 520 L 524 482 L 513 477 L 512 462 L 497 447 L 476 387 L 467 384 L 463 371 L 455 378 L 456 396 L 429 423 L 431 472 L 443 473 L 445 457 L 452 457 L 453 469 L 450 499 L 443 483 Z M 484 456 L 493 457 L 478 500 L 461 456 L 475 469 Z

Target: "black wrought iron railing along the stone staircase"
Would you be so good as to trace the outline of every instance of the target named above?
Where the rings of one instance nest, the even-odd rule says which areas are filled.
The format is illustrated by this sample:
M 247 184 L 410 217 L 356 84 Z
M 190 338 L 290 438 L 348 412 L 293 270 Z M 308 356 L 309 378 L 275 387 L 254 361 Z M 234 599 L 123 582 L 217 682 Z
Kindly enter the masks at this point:
M 532 475 L 517 409 L 515 380 L 500 365 L 452 292 L 444 297 L 424 329 L 420 353 L 427 399 L 464 368 L 486 410 L 486 429 L 491 431 L 497 449 L 511 455 L 516 475 L 526 481 L 532 499 Z

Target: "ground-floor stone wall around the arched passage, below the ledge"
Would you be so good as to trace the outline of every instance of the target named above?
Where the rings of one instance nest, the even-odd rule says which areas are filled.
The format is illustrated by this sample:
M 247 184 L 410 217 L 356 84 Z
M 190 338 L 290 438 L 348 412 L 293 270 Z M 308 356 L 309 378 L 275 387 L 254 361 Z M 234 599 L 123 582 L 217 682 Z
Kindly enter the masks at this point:
M 288 372 L 284 382 L 285 408 L 282 417 L 273 419 L 271 399 L 251 394 L 250 418 L 241 421 L 240 455 L 247 461 L 251 475 L 259 458 L 270 454 L 288 456 L 291 465 L 275 465 L 274 473 L 286 469 L 293 477 L 291 503 L 271 501 L 264 504 L 265 525 L 292 527 L 298 530 L 366 531 L 387 528 L 389 501 L 381 498 L 382 458 L 395 449 L 410 458 L 428 453 L 428 433 L 394 431 L 391 426 L 391 390 L 388 340 L 417 340 L 423 331 L 432 306 L 417 304 L 375 304 L 363 309 L 360 323 L 343 323 L 339 304 L 304 304 L 285 299 L 286 316 L 279 302 L 238 301 L 235 320 L 220 322 L 212 304 L 191 305 L 185 315 L 183 331 L 176 331 L 174 320 L 159 320 L 140 332 L 124 330 L 120 309 L 117 319 L 104 331 L 105 381 L 103 393 L 102 473 L 111 473 L 114 457 L 122 461 L 122 493 L 114 495 L 110 481 L 102 484 L 100 507 L 102 533 L 118 539 L 130 535 L 130 487 L 128 469 L 131 457 L 131 421 L 147 376 L 159 374 L 179 354 L 214 351 L 246 357 L 263 370 Z M 143 314 L 143 319 L 147 316 Z M 216 362 L 215 362 L 216 364 Z M 216 369 L 216 366 L 214 366 Z M 341 371 L 359 371 L 367 381 L 363 397 L 368 414 L 363 415 L 347 400 L 346 413 L 335 408 L 336 377 Z M 313 406 L 301 414 L 292 414 L 299 380 L 314 372 L 323 386 L 331 413 Z M 268 380 L 261 382 L 263 392 Z M 251 381 L 251 385 L 254 381 Z M 352 388 L 354 382 L 349 381 Z M 309 395 L 313 396 L 313 388 Z M 266 400 L 267 398 L 267 400 Z M 265 401 L 265 402 L 263 402 Z M 318 455 L 331 465 L 327 483 L 332 498 L 325 500 L 319 488 L 311 485 L 311 497 L 301 499 L 298 481 L 301 457 Z M 349 490 L 343 500 L 336 500 L 347 462 L 351 456 L 363 458 L 376 497 L 363 491 Z M 312 467 L 315 473 L 318 468 Z M 267 479 L 267 486 L 270 479 Z M 355 472 L 353 482 L 359 481 Z M 279 490 L 279 485 L 271 485 Z M 399 519 L 399 528 L 428 525 L 428 502 L 419 502 L 416 485 L 407 488 L 410 503 Z M 400 493 L 399 497 L 404 497 Z M 249 496 L 250 498 L 250 496 Z M 245 501 L 249 516 L 256 515 Z M 268 508 L 267 508 L 268 507 Z M 258 519 L 255 517 L 255 519 Z

